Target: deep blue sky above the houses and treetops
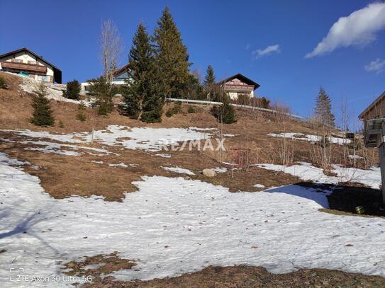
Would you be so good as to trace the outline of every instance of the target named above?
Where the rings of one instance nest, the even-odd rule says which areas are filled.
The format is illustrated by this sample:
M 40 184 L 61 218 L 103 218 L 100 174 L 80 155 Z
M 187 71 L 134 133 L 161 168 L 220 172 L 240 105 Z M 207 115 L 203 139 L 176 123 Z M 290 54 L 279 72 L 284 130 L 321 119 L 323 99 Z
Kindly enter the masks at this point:
M 337 117 L 342 98 L 350 102 L 357 117 L 385 91 L 385 24 L 381 21 L 385 13 L 376 16 L 372 26 L 373 13 L 363 15 L 369 15 L 368 20 L 356 22 L 369 27 L 361 31 L 357 31 L 355 17 L 347 18 L 347 23 L 337 27 L 344 26 L 342 33 L 336 28 L 313 57 L 306 58 L 306 54 L 341 17 L 372 3 L 40 0 L 31 4 L 1 0 L 0 53 L 28 47 L 62 69 L 63 81 L 85 81 L 101 73 L 101 21 L 111 19 L 118 26 L 126 46 L 121 62 L 125 64 L 138 23 L 143 21 L 152 33 L 164 6 L 169 6 L 194 63 L 191 69 L 204 75 L 211 64 L 217 79 L 245 74 L 260 83 L 257 95 L 286 103 L 294 113 L 305 116 L 312 113 L 322 85 Z

